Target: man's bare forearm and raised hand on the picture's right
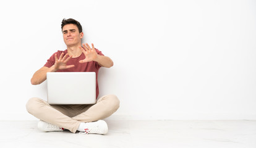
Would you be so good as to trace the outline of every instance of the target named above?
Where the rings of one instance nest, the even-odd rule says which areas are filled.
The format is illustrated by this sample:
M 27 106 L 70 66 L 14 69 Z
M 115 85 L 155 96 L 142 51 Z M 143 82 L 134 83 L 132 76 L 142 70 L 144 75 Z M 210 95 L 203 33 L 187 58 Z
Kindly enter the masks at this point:
M 80 60 L 80 63 L 90 62 L 93 60 L 95 62 L 98 62 L 98 64 L 100 64 L 102 67 L 110 68 L 114 65 L 113 61 L 109 57 L 106 57 L 104 55 L 98 55 L 95 51 L 95 47 L 93 44 L 92 48 L 87 43 L 86 46 L 85 44 L 83 44 L 83 47 L 79 48 L 82 50 L 83 54 L 85 54 L 85 59 Z

